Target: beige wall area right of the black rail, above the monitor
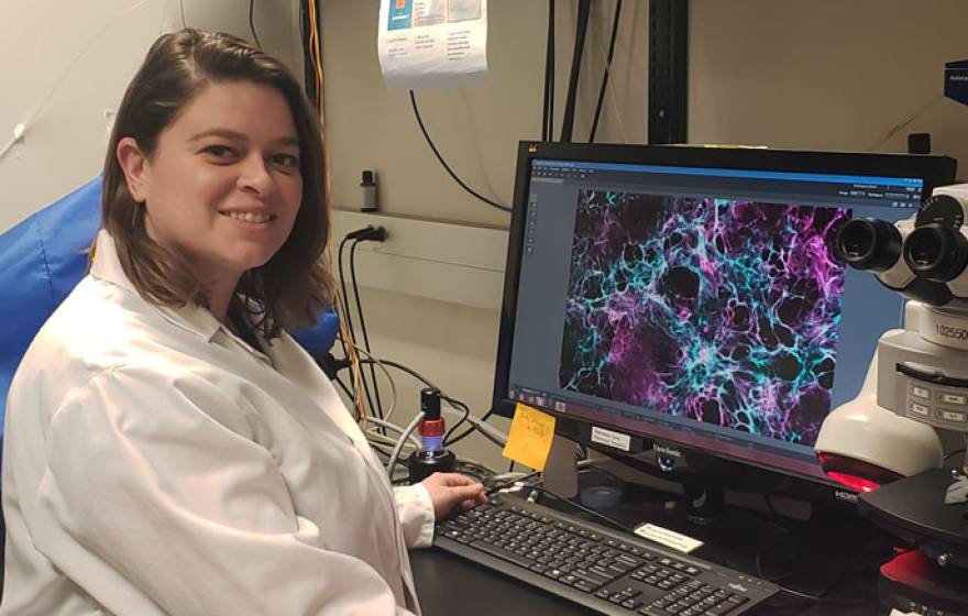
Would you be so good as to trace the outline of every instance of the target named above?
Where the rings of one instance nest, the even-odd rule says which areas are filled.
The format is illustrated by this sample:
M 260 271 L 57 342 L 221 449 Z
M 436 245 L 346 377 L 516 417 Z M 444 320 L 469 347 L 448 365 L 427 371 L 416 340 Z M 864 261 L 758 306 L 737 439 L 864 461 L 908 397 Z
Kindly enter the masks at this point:
M 964 0 L 693 0 L 694 142 L 905 152 L 910 132 L 968 165 L 968 107 L 942 98 L 968 58 Z M 926 108 L 926 109 L 925 109 Z M 887 133 L 923 111 L 890 140 Z

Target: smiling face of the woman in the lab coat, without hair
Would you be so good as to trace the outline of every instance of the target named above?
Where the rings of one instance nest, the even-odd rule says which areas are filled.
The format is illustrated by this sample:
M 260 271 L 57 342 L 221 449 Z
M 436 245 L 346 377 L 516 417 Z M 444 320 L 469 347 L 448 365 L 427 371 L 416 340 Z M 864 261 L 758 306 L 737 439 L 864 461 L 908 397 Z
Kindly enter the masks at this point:
M 234 287 L 243 272 L 266 263 L 302 200 L 289 106 L 279 91 L 250 81 L 208 85 L 141 164 L 129 167 L 129 186 L 144 202 L 148 235 L 215 287 Z

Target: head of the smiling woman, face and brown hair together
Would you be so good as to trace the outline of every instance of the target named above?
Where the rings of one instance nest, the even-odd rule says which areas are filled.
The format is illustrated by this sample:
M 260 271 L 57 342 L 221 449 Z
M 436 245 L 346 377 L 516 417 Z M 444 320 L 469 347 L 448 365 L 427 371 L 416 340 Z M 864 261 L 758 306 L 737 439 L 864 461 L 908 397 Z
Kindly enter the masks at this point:
M 185 31 L 155 43 L 124 95 L 105 163 L 105 229 L 139 292 L 167 306 L 211 306 L 224 320 L 238 280 L 263 305 L 270 338 L 312 322 L 333 293 L 320 262 L 329 212 L 319 134 L 298 81 L 243 41 Z M 244 190 L 227 193 L 229 184 Z M 200 219 L 218 208 L 277 216 L 258 240 L 272 250 L 260 253 L 250 239 L 248 257 L 228 257 L 223 243 L 210 245 L 216 219 Z M 243 267 L 244 258 L 254 261 Z M 231 270 L 235 280 L 216 276 Z

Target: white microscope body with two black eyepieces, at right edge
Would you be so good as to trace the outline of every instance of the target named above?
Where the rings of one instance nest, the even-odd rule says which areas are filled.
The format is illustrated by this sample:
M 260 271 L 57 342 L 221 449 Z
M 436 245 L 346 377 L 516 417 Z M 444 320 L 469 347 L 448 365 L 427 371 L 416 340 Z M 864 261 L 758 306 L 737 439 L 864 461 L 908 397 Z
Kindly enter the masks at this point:
M 903 329 L 886 332 L 860 394 L 824 420 L 824 471 L 870 491 L 942 468 L 968 435 L 968 185 L 935 189 L 891 224 L 855 219 L 834 251 L 905 296 Z M 845 481 L 845 479 L 847 481 Z

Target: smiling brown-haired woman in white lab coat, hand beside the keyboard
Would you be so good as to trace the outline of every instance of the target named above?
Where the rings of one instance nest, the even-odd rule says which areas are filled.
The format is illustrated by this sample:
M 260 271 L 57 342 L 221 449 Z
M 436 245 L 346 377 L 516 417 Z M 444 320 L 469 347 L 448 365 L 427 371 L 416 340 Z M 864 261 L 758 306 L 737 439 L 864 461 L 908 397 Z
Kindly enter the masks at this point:
M 0 615 L 419 613 L 406 548 L 485 497 L 435 475 L 395 498 L 285 333 L 332 299 L 321 170 L 278 62 L 193 30 L 152 46 L 90 272 L 11 386 Z

